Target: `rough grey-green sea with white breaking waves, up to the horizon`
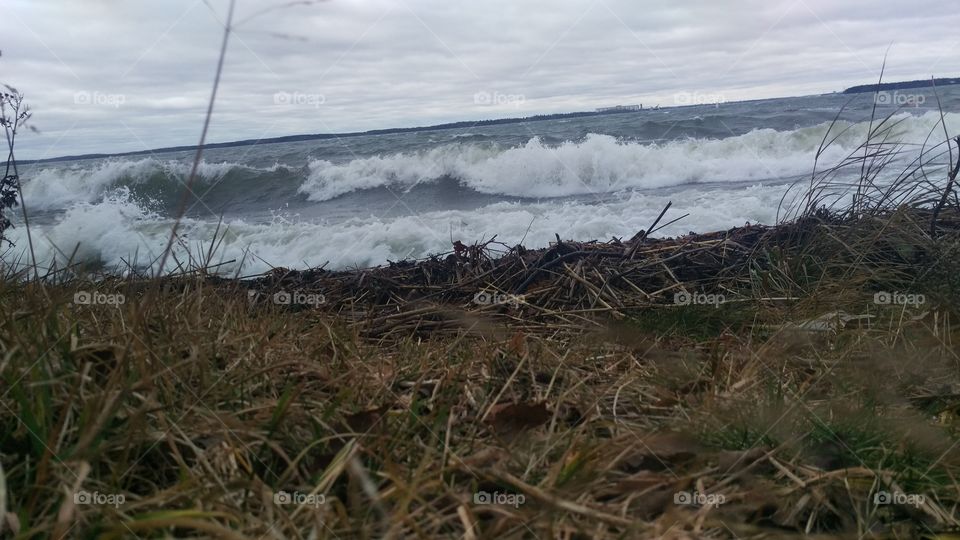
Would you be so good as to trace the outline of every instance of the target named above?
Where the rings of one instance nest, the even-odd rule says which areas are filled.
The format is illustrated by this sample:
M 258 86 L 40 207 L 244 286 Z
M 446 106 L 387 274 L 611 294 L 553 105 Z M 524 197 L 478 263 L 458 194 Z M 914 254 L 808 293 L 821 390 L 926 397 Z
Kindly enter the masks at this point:
M 960 87 L 702 103 L 599 116 L 208 149 L 179 227 L 178 264 L 229 275 L 362 268 L 452 250 L 723 230 L 789 218 L 816 170 L 890 117 L 893 178 L 960 129 Z M 892 115 L 892 116 L 891 116 Z M 871 117 L 875 117 L 871 121 Z M 829 131 L 829 133 L 828 133 Z M 825 149 L 821 145 L 831 141 Z M 858 150 L 859 149 L 859 150 Z M 955 152 L 956 153 L 956 152 Z M 193 151 L 23 165 L 38 264 L 160 270 Z M 898 169 L 899 166 L 899 169 Z M 946 178 L 948 158 L 925 168 Z M 855 180 L 854 163 L 838 178 Z M 842 204 L 843 196 L 838 196 Z M 7 265 L 30 260 L 19 210 Z M 663 226 L 666 225 L 666 226 Z

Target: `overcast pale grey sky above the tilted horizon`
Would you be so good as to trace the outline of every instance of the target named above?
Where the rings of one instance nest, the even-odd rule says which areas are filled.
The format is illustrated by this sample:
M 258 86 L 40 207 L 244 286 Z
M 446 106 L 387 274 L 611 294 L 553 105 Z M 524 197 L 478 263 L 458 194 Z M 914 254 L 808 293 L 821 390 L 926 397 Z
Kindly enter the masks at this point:
M 228 0 L 4 0 L 18 157 L 193 145 Z M 273 9 L 276 8 L 276 9 Z M 941 1 L 237 0 L 209 142 L 960 76 Z

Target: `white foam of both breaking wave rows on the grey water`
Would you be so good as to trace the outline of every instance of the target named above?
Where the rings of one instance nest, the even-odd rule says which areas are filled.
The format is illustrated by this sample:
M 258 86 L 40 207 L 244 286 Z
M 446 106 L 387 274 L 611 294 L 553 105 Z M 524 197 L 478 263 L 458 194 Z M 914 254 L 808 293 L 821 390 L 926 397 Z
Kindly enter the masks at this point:
M 922 142 L 939 116 L 903 115 L 900 119 L 900 140 Z M 947 121 L 955 128 L 960 115 L 948 115 Z M 847 127 L 850 129 L 823 161 L 842 159 L 864 140 L 866 124 L 835 129 L 839 132 Z M 433 211 L 391 219 L 358 217 L 338 223 L 299 221 L 295 216 L 278 217 L 271 223 L 234 219 L 225 224 L 226 235 L 212 262 L 243 260 L 242 267 L 234 262 L 219 268 L 224 273 L 242 274 L 265 271 L 270 265 L 305 268 L 327 262 L 328 268 L 339 269 L 425 257 L 449 251 L 451 240 L 471 243 L 493 235 L 508 245 L 522 241 L 530 248 L 548 245 L 555 234 L 575 240 L 629 238 L 648 227 L 667 201 L 674 206 L 666 220 L 685 213 L 690 217 L 658 235 L 719 230 L 747 221 L 773 223 L 786 186 L 757 179 L 809 172 L 825 130 L 826 126 L 781 132 L 764 129 L 722 140 L 659 145 L 592 135 L 558 147 L 534 139 L 512 149 L 457 144 L 340 165 L 315 161 L 309 179 L 301 186 L 314 200 L 387 184 L 409 187 L 443 175 L 482 192 L 547 200 L 501 202 L 470 211 Z M 216 178 L 236 166 L 204 164 L 201 175 Z M 33 228 L 38 262 L 44 266 L 54 260 L 63 263 L 77 248 L 74 262 L 108 268 L 122 267 L 125 261 L 149 263 L 162 253 L 172 222 L 147 210 L 118 180 L 143 180 L 156 171 L 169 170 L 186 175 L 188 167 L 180 162 L 143 159 L 106 161 L 90 170 L 41 170 L 24 183 L 28 204 L 67 210 L 57 215 L 52 225 Z M 757 181 L 747 188 L 723 183 L 751 179 Z M 700 185 L 682 186 L 689 183 Z M 669 194 L 624 191 L 666 186 L 681 187 Z M 606 195 L 602 204 L 550 199 L 596 192 L 616 195 Z M 199 254 L 206 251 L 215 228 L 209 221 L 185 219 L 180 231 L 189 249 Z M 4 253 L 7 264 L 28 261 L 25 232 L 22 224 L 8 231 L 16 247 Z M 179 244 L 175 247 L 181 260 L 186 259 L 186 249 Z M 167 270 L 174 264 L 171 258 Z

